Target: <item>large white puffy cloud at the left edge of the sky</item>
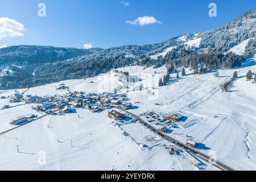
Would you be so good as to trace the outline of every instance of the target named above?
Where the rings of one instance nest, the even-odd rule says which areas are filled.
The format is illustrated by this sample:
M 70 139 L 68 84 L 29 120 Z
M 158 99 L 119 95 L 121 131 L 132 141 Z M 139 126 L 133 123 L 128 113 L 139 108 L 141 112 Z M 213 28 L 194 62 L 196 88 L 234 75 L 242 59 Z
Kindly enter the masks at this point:
M 0 18 L 0 39 L 23 35 L 24 25 L 7 17 Z

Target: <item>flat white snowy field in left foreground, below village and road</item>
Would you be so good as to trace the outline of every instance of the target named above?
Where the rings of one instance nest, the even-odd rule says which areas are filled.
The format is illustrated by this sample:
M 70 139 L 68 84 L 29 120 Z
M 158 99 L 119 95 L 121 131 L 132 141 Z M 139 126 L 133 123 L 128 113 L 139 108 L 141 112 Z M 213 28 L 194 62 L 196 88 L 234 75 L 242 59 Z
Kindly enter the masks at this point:
M 47 116 L 10 131 L 6 138 L 0 136 L 0 147 L 5 148 L 0 169 L 198 170 L 188 155 L 170 155 L 163 146 L 141 150 L 110 125 L 106 111 L 93 114 L 80 109 L 78 113 L 80 118 L 77 114 Z M 46 154 L 45 165 L 40 163 L 42 154 Z

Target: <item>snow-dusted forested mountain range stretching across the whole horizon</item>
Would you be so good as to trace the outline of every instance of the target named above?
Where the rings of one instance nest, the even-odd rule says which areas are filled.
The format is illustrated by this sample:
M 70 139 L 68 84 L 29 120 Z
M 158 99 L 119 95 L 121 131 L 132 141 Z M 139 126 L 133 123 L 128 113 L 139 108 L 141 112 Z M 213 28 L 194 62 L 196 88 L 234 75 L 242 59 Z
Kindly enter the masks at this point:
M 181 61 L 189 60 L 189 56 L 184 60 L 185 55 L 224 54 L 230 49 L 237 51 L 239 55 L 249 57 L 256 47 L 255 39 L 251 42 L 256 34 L 255 24 L 256 11 L 249 11 L 216 30 L 184 34 L 162 43 L 144 46 L 129 45 L 89 50 L 40 46 L 1 48 L 0 68 L 15 65 L 29 74 L 29 76 L 26 74 L 26 77 L 0 76 L 0 82 L 3 83 L 1 88 L 25 88 L 73 78 L 92 77 L 108 72 L 112 68 L 136 65 L 140 62 L 146 65 L 150 59 L 157 60 L 159 56 L 167 58 L 155 61 L 158 62 L 156 67 L 167 64 L 168 61 L 182 64 Z M 248 39 L 250 41 L 246 46 Z M 239 48 L 236 47 L 240 43 Z M 244 46 L 246 46 L 245 49 L 243 49 Z M 170 52 L 172 52 L 171 55 L 169 55 Z M 179 52 L 181 52 L 180 55 Z M 141 61 L 142 59 L 146 61 Z M 22 72 L 18 69 L 17 71 Z

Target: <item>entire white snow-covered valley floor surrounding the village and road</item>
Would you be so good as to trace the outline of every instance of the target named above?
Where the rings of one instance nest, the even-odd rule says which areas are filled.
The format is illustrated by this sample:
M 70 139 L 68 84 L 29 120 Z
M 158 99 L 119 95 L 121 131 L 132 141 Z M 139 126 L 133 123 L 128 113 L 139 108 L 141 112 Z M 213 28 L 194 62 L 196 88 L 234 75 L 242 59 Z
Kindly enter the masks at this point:
M 196 40 L 197 43 L 199 40 Z M 191 44 L 195 44 L 195 41 Z M 256 72 L 256 55 L 246 61 L 241 68 L 220 70 L 220 77 L 214 77 L 214 71 L 204 75 L 191 75 L 176 78 L 172 74 L 170 83 L 158 88 L 159 78 L 167 69 L 142 67 L 119 68 L 130 75 L 143 77 L 143 89 L 127 92 L 132 104 L 137 109 L 134 114 L 146 111 L 170 113 L 180 111 L 187 120 L 168 133 L 173 138 L 185 142 L 192 138 L 200 142 L 198 150 L 205 154 L 215 152 L 217 160 L 237 170 L 256 169 L 256 84 L 246 81 L 249 69 Z M 220 85 L 229 80 L 233 72 L 238 78 L 229 88 L 222 92 Z M 101 74 L 86 80 L 68 80 L 30 88 L 26 94 L 38 96 L 63 95 L 68 90 L 56 90 L 61 83 L 69 86 L 71 92 L 84 91 L 102 93 L 113 91 L 122 86 L 114 72 Z M 133 86 L 133 85 L 130 85 Z M 22 93 L 26 89 L 19 90 Z M 150 90 L 150 91 L 149 91 Z M 126 92 L 123 88 L 119 92 Z M 10 96 L 14 90 L 2 90 L 0 96 Z M 39 114 L 31 109 L 32 105 L 23 102 L 10 104 L 8 99 L 0 100 L 3 105 L 14 106 L 0 110 L 0 133 L 13 126 L 11 119 L 25 114 Z M 158 104 L 158 105 L 156 105 Z M 78 117 L 80 115 L 80 118 Z M 162 141 L 150 150 L 141 148 L 123 136 L 122 130 L 110 123 L 107 111 L 92 113 L 78 109 L 76 114 L 48 115 L 28 123 L 18 129 L 0 135 L 0 169 L 15 170 L 198 170 L 188 155 L 170 155 Z M 49 127 L 50 126 L 50 127 Z M 123 125 L 123 130 L 138 143 L 146 143 L 147 136 L 154 135 L 137 123 Z M 71 146 L 72 140 L 72 146 Z M 152 141 L 152 140 L 151 140 Z M 17 144 L 19 151 L 17 152 Z M 40 165 L 40 151 L 46 154 L 46 165 Z M 34 155 L 32 155 L 34 154 Z M 208 163 L 203 169 L 216 170 Z

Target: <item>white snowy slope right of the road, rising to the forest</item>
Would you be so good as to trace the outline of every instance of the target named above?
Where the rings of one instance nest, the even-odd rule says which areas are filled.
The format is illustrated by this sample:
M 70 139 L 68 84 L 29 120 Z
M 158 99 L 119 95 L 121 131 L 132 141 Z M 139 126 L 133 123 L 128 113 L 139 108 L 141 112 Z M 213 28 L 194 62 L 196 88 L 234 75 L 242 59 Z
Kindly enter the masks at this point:
M 249 69 L 256 72 L 255 60 L 254 55 L 241 68 L 221 70 L 218 78 L 207 73 L 174 79 L 170 85 L 158 90 L 155 100 L 149 100 L 144 93 L 129 93 L 132 102 L 140 103 L 134 113 L 183 110 L 200 115 L 201 119 L 197 119 L 194 125 L 175 129 L 170 135 L 184 141 L 187 140 L 184 135 L 189 135 L 197 142 L 203 142 L 199 146 L 201 152 L 216 152 L 218 160 L 234 169 L 256 169 L 256 145 L 253 142 L 256 139 L 256 85 L 245 78 Z M 238 79 L 230 86 L 229 92 L 222 92 L 220 85 L 229 80 L 234 71 L 238 72 Z M 181 133 L 181 136 L 175 133 Z

